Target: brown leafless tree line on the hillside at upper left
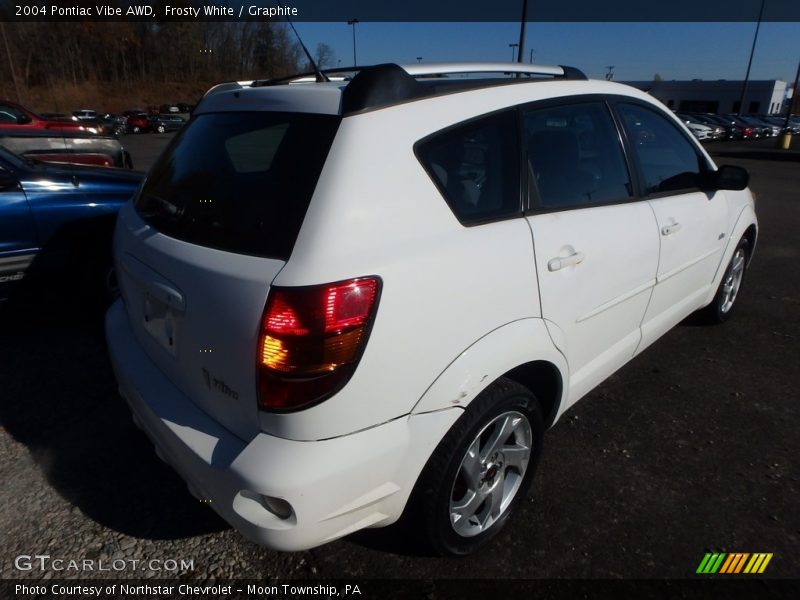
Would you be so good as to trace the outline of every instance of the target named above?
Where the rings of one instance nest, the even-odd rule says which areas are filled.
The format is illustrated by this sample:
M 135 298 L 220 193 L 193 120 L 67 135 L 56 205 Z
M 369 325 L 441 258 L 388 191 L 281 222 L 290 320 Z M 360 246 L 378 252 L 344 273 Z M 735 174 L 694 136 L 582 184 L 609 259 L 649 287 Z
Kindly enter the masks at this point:
M 306 63 L 280 23 L 28 22 L 5 23 L 5 33 L 0 78 L 10 83 L 13 68 L 26 88 L 271 78 Z

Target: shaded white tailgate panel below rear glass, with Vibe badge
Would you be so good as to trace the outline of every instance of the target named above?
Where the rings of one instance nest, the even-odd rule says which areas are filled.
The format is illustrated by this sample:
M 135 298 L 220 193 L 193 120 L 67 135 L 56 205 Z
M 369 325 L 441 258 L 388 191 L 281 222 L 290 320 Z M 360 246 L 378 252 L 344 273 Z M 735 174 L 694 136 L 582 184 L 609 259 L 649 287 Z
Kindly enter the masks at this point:
M 170 238 L 155 232 L 130 204 L 119 212 L 115 239 L 120 290 L 137 342 L 198 406 L 241 439 L 254 436 L 257 324 L 283 261 L 243 255 L 230 260 L 227 252 Z M 170 306 L 160 290 L 180 296 L 182 306 Z M 231 290 L 236 310 L 229 308 Z

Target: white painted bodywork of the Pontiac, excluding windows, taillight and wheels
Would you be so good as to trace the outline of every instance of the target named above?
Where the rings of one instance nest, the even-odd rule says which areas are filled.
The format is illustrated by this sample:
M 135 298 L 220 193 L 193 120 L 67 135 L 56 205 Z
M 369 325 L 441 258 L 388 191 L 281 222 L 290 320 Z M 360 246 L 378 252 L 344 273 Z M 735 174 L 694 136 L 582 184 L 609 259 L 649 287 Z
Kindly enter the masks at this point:
M 489 67 L 497 65 L 481 68 Z M 196 114 L 337 115 L 345 86 L 224 84 Z M 690 135 L 627 86 L 514 81 L 345 116 L 287 260 L 183 242 L 132 205 L 120 212 L 124 302 L 106 319 L 112 363 L 134 419 L 194 493 L 250 539 L 282 550 L 389 524 L 453 423 L 498 378 L 546 365 L 560 387 L 545 415 L 554 422 L 711 302 L 736 244 L 756 226 L 749 191 L 465 226 L 415 154 L 420 140 L 475 117 L 587 95 L 647 103 Z M 259 410 L 258 340 L 271 286 L 370 276 L 380 298 L 347 383 L 299 411 Z M 291 516 L 268 510 L 264 496 L 288 502 Z

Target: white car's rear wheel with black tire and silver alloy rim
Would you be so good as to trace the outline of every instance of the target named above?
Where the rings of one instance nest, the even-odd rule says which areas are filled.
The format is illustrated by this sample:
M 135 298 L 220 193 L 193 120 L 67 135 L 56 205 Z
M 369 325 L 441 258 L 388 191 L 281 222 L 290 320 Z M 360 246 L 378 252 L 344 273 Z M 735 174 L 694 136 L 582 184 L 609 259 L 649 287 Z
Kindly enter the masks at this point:
M 503 427 L 512 429 L 500 434 Z M 492 540 L 530 487 L 543 432 L 539 403 L 527 388 L 501 378 L 484 390 L 436 447 L 414 488 L 404 519 L 421 529 L 420 541 L 442 556 L 466 556 Z M 512 436 L 514 443 L 507 444 Z M 494 439 L 497 444 L 491 443 Z M 520 469 L 512 457 L 524 456 L 526 442 L 530 450 Z M 480 460 L 484 452 L 489 452 L 485 461 Z M 469 469 L 470 462 L 475 469 Z M 479 482 L 474 490 L 465 475 L 470 470 Z M 502 502 L 496 503 L 497 498 Z

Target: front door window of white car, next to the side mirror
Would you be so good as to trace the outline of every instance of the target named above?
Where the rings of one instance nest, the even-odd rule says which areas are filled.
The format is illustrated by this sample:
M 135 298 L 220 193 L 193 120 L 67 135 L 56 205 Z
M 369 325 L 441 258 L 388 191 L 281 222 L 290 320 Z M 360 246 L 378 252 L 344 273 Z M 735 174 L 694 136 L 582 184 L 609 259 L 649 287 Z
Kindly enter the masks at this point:
M 638 104 L 619 103 L 617 110 L 636 150 L 645 194 L 698 187 L 705 160 L 674 123 Z

